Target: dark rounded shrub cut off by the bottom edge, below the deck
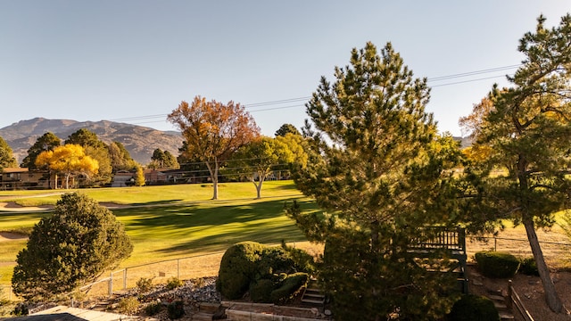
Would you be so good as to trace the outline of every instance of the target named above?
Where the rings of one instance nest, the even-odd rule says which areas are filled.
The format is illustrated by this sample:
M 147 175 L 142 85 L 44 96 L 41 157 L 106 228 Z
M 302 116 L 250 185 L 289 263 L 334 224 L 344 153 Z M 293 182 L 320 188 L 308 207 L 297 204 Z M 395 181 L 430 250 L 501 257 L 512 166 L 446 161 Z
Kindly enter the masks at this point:
M 448 321 L 499 321 L 500 314 L 492 300 L 475 294 L 463 295 L 451 309 Z

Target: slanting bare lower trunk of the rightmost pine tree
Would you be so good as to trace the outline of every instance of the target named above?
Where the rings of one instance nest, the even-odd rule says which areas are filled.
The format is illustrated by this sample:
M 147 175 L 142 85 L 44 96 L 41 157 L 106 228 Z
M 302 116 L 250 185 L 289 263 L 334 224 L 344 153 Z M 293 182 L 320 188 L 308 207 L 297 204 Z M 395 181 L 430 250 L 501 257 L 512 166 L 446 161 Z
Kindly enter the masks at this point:
M 537 234 L 535 233 L 535 226 L 533 219 L 524 220 L 525 232 L 527 233 L 527 240 L 534 253 L 535 263 L 537 264 L 537 270 L 539 276 L 542 279 L 543 291 L 545 292 L 545 300 L 547 300 L 547 305 L 553 312 L 561 312 L 563 310 L 563 303 L 559 299 L 559 295 L 555 291 L 555 285 L 553 280 L 551 280 L 550 270 L 545 264 L 545 259 L 543 259 L 542 248 L 537 239 Z

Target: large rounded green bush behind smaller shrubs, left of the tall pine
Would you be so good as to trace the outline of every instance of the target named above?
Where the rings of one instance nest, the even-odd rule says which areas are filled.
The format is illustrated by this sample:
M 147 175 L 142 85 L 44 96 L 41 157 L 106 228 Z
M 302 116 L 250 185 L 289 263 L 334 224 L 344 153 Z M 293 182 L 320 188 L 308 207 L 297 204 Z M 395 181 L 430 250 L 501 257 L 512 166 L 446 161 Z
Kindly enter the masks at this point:
M 302 251 L 294 252 L 303 256 Z M 260 280 L 274 280 L 280 274 L 297 272 L 297 268 L 289 251 L 283 248 L 255 242 L 236 243 L 228 248 L 220 261 L 216 287 L 228 300 L 236 300 L 251 286 L 256 287 Z

